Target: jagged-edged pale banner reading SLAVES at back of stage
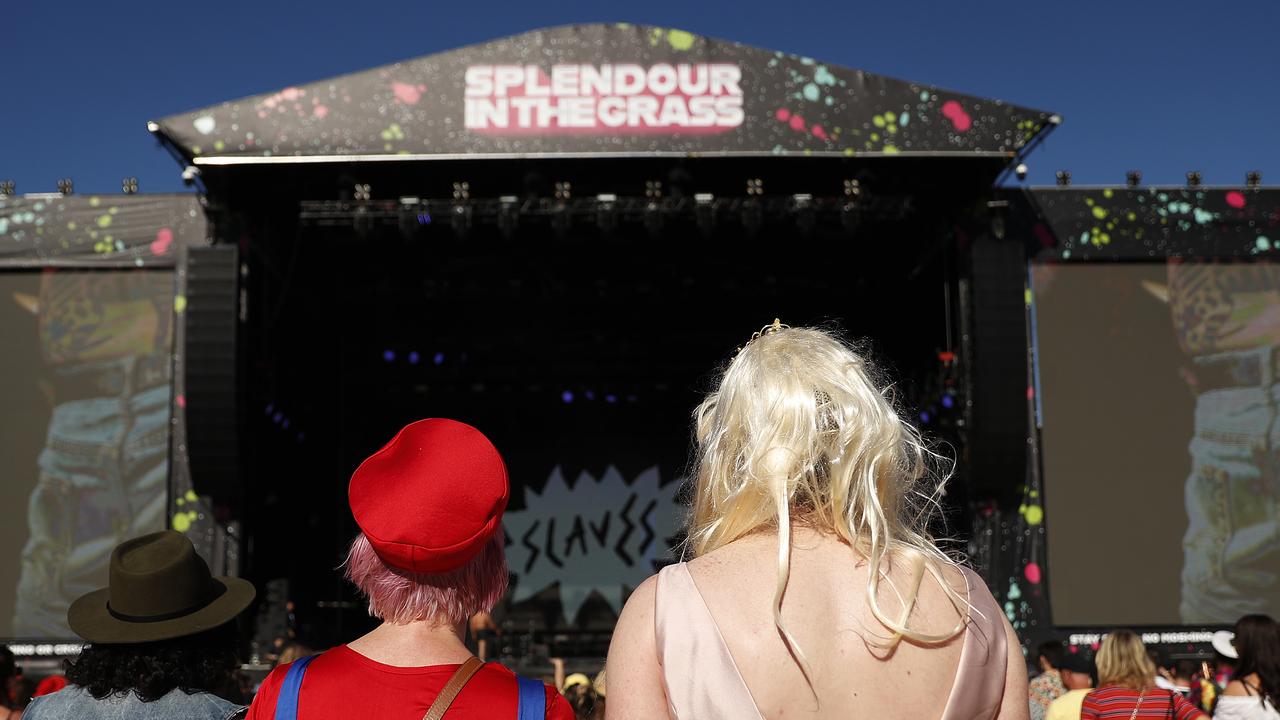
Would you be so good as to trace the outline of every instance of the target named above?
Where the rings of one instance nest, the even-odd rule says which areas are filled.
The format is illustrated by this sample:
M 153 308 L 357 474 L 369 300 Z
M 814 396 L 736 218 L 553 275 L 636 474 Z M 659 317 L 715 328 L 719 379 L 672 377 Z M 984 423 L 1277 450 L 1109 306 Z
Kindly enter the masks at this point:
M 503 520 L 511 537 L 507 562 L 518 577 L 513 600 L 559 583 L 567 620 L 593 592 L 618 612 L 622 585 L 635 588 L 653 574 L 654 560 L 669 555 L 680 484 L 660 484 L 657 466 L 627 483 L 609 466 L 599 479 L 581 473 L 570 488 L 557 466 L 541 493 L 525 488 L 525 510 Z

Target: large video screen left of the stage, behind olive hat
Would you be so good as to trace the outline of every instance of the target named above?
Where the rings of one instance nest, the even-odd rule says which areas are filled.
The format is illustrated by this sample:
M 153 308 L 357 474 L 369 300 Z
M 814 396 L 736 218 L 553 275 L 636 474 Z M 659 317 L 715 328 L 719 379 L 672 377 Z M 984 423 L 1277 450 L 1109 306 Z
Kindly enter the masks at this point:
M 173 270 L 0 273 L 0 638 L 70 638 L 116 543 L 165 527 Z

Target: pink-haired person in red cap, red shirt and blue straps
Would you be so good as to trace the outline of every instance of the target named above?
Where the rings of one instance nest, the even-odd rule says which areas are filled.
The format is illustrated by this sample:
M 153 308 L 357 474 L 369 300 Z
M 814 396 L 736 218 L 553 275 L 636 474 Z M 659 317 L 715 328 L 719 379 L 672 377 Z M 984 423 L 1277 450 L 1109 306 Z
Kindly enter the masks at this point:
M 365 460 L 348 488 L 360 534 L 344 566 L 383 624 L 273 670 L 248 717 L 571 720 L 554 688 L 465 644 L 467 620 L 507 588 L 508 492 L 497 448 L 454 420 L 412 423 Z

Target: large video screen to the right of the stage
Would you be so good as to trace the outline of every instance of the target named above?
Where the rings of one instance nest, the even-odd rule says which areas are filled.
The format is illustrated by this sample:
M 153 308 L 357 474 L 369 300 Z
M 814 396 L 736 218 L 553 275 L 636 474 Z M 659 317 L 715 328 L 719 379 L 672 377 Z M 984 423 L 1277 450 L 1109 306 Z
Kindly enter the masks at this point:
M 1280 265 L 1033 268 L 1053 623 L 1280 612 Z

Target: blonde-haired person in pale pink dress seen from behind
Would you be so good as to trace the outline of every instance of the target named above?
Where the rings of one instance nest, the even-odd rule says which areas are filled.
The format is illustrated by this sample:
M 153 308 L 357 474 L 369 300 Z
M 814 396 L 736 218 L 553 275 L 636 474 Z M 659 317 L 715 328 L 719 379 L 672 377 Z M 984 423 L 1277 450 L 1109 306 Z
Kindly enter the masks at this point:
M 1025 720 L 980 579 L 925 530 L 943 474 L 858 352 L 777 322 L 695 411 L 692 560 L 627 601 L 609 720 Z

